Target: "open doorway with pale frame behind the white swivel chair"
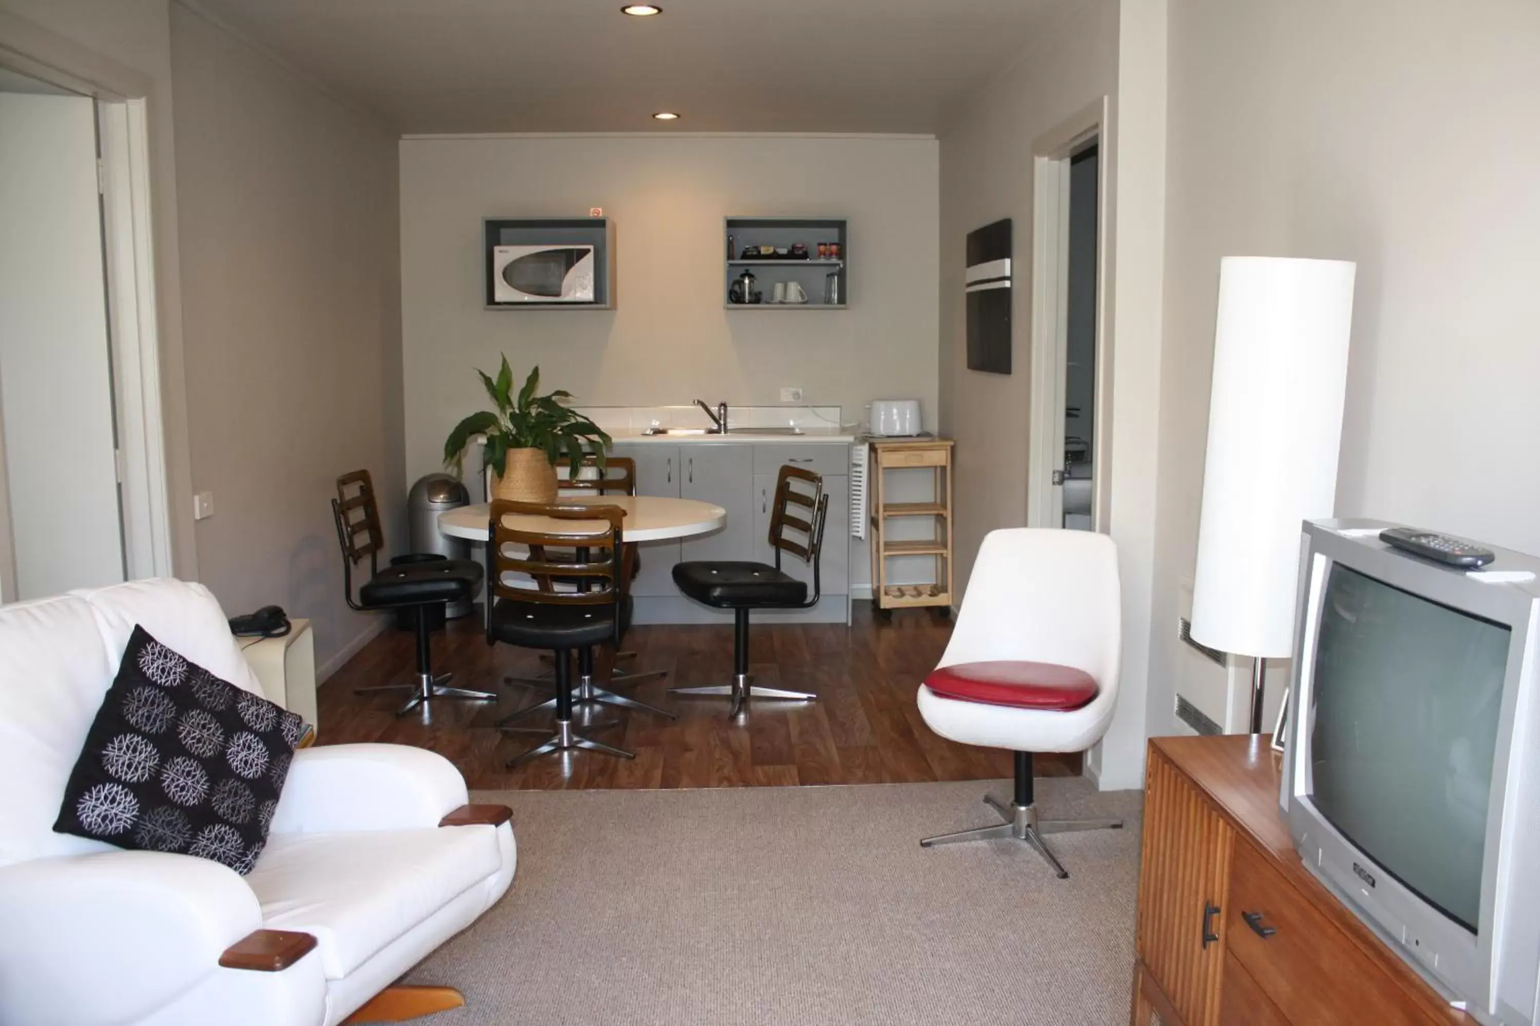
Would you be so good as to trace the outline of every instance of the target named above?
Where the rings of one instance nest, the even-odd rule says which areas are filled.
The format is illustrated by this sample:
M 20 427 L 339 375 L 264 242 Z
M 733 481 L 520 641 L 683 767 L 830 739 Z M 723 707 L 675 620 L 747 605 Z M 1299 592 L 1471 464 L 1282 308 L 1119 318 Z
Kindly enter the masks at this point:
M 1109 529 L 1106 98 L 1033 145 L 1032 438 L 1035 528 Z

